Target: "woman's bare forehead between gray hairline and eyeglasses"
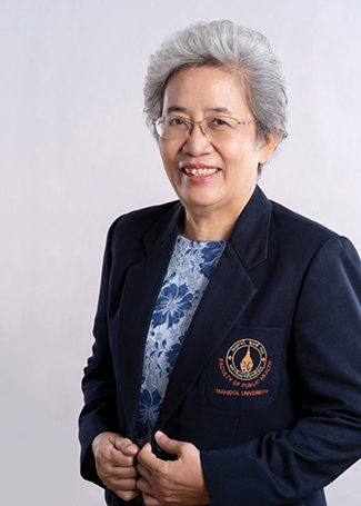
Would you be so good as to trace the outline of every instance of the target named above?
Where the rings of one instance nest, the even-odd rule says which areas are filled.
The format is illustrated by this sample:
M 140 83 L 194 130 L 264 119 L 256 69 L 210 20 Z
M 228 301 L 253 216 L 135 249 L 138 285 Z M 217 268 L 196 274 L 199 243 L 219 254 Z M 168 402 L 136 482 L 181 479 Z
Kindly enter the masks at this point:
M 243 85 L 235 73 L 215 67 L 185 68 L 169 79 L 163 113 L 248 112 Z

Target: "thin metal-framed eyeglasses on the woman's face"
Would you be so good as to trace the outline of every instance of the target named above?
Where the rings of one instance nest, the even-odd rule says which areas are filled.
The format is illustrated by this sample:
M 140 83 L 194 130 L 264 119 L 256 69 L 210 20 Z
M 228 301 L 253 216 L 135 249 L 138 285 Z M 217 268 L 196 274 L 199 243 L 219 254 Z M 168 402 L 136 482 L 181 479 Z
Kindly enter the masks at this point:
M 203 118 L 202 121 L 191 121 L 181 116 L 164 116 L 153 119 L 152 123 L 156 127 L 157 133 L 163 139 L 183 139 L 187 135 L 191 135 L 194 125 L 199 125 L 201 132 L 209 140 L 227 140 L 232 139 L 240 126 L 248 127 L 257 123 L 257 119 L 244 119 L 239 121 L 235 118 L 228 116 L 211 116 Z

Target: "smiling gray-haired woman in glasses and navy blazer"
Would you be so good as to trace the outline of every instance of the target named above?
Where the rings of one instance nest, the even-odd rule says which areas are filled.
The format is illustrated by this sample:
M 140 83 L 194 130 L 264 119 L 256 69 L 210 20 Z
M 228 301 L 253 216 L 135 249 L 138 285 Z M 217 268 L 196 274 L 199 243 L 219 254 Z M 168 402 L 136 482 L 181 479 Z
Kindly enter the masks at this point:
M 361 267 L 271 202 L 287 136 L 267 39 L 199 23 L 151 57 L 146 112 L 179 200 L 110 228 L 81 470 L 109 505 L 325 505 L 361 456 Z

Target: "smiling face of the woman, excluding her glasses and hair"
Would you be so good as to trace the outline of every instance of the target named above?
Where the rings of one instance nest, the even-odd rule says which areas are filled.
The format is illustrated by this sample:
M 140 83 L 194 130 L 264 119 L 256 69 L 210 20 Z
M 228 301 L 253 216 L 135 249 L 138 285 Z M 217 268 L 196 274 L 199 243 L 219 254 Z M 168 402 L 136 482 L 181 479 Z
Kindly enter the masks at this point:
M 213 67 L 182 69 L 169 79 L 162 116 L 170 113 L 194 121 L 214 115 L 252 119 L 239 79 Z M 187 211 L 232 217 L 250 199 L 258 165 L 267 161 L 275 145 L 274 139 L 260 145 L 254 123 L 239 126 L 233 138 L 221 141 L 210 141 L 197 123 L 183 139 L 159 138 L 166 172 Z

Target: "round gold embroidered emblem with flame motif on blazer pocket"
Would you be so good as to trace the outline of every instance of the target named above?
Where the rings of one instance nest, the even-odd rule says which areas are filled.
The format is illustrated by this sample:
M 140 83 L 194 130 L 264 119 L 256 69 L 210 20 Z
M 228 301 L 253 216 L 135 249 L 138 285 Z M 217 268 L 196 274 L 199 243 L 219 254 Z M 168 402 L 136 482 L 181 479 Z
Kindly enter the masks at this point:
M 227 368 L 238 379 L 255 379 L 263 373 L 267 364 L 264 346 L 255 339 L 241 339 L 227 353 Z

